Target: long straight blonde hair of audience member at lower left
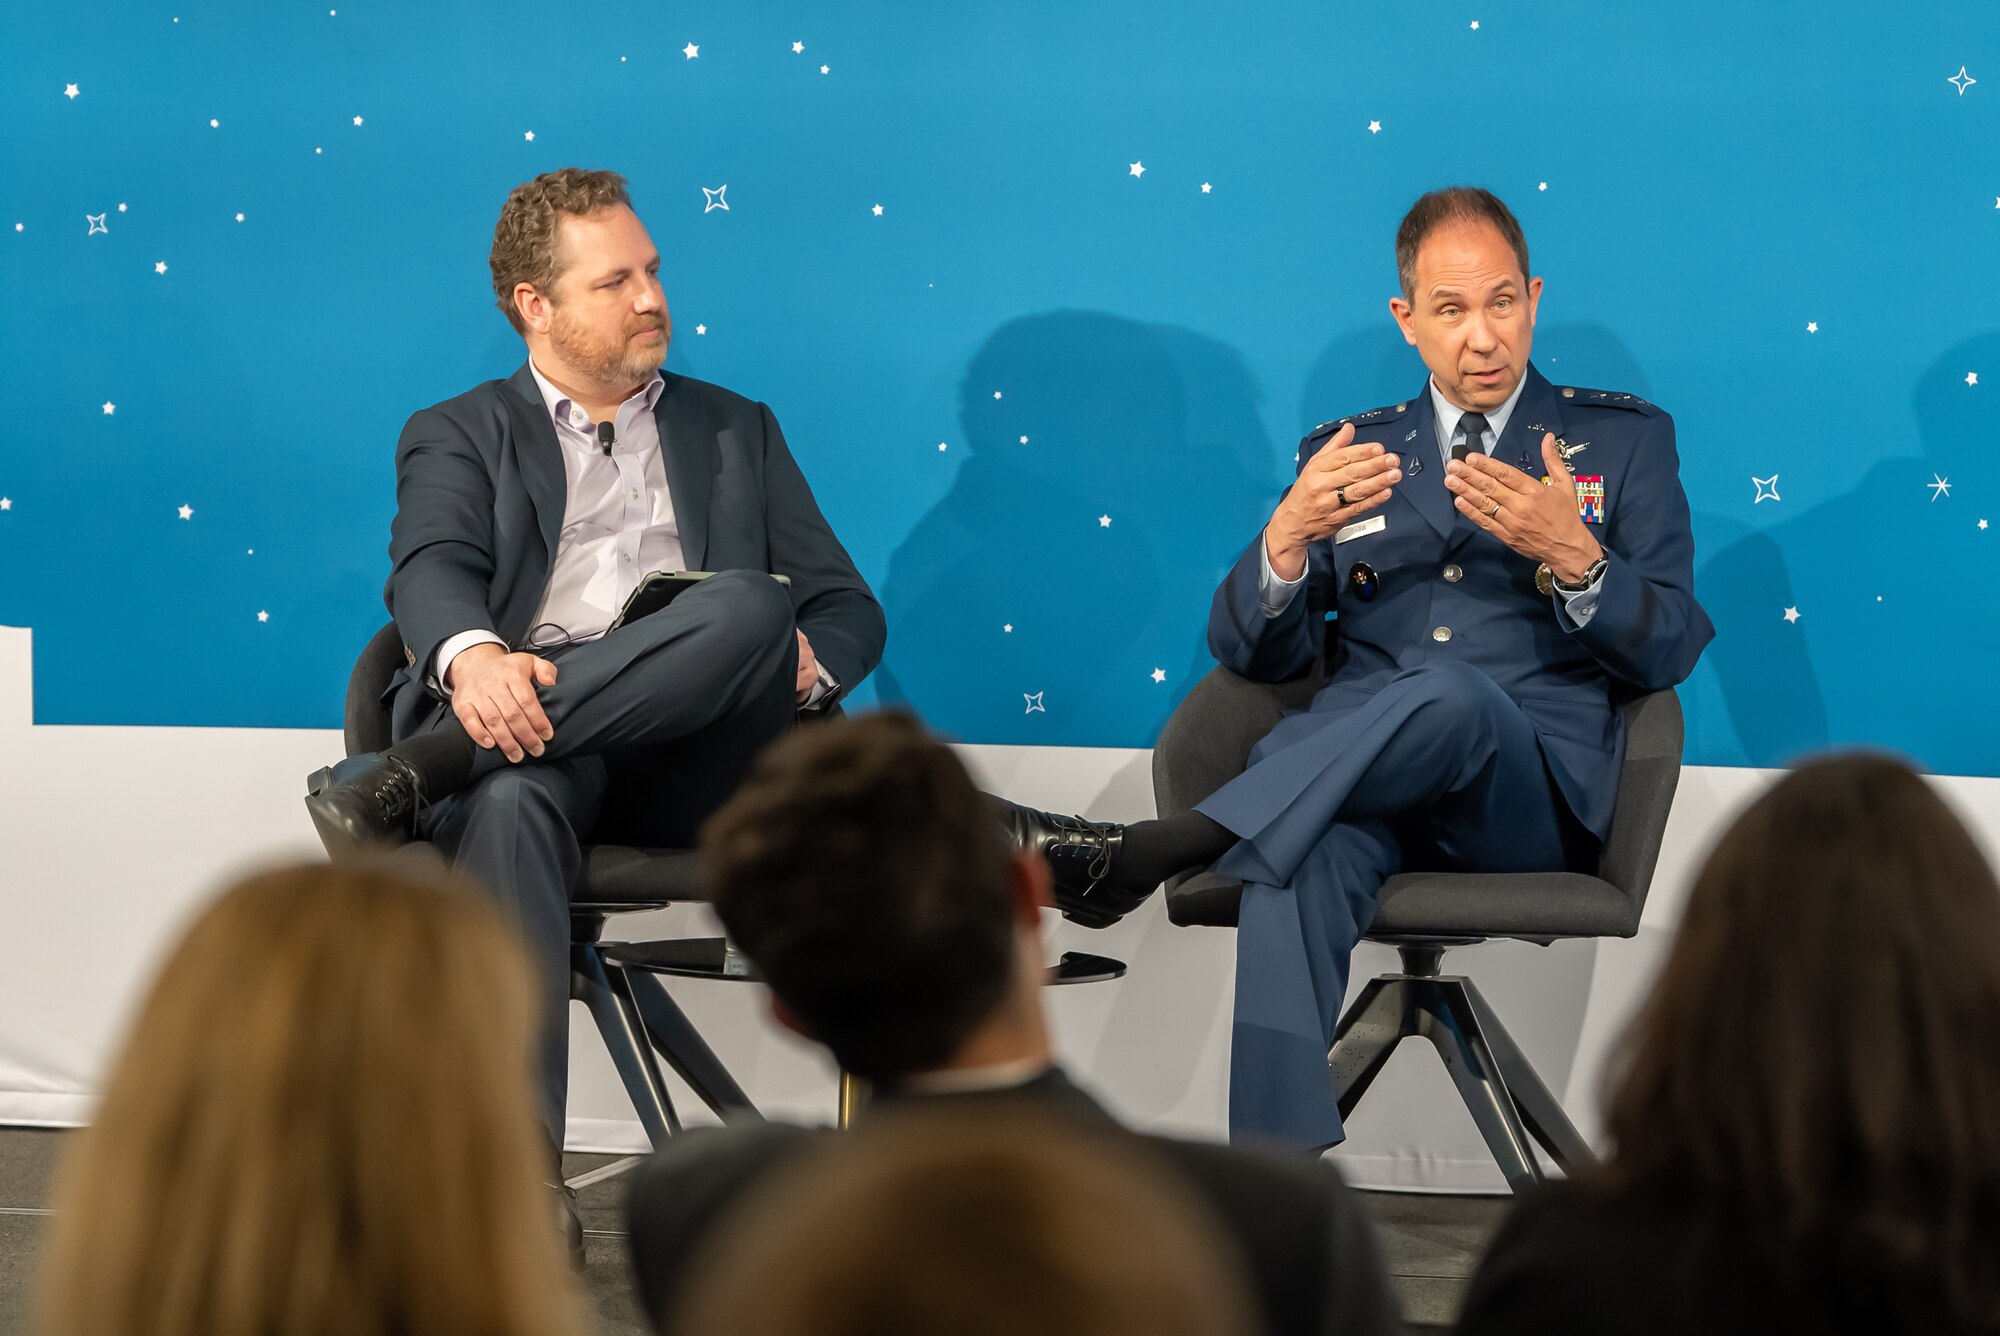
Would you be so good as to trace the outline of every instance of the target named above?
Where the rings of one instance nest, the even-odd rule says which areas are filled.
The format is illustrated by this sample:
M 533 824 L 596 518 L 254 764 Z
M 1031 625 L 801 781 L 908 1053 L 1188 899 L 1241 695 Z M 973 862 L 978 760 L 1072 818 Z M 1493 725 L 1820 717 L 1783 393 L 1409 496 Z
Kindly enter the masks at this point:
M 140 1002 L 56 1184 L 40 1336 L 580 1330 L 528 962 L 378 866 L 228 890 Z

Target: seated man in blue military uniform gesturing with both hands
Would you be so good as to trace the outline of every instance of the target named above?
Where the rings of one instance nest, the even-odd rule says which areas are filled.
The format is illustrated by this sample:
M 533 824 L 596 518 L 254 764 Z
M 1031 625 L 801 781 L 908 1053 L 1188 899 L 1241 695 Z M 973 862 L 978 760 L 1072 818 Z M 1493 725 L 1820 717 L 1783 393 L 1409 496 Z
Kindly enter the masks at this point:
M 1382 882 L 1592 868 L 1624 760 L 1618 702 L 1682 682 L 1714 636 L 1672 418 L 1534 370 L 1542 280 L 1506 204 L 1426 194 L 1396 270 L 1390 312 L 1428 384 L 1300 442 L 1298 480 L 1208 620 L 1216 660 L 1260 682 L 1324 648 L 1312 706 L 1184 816 L 1012 812 L 1106 916 L 1190 866 L 1244 882 L 1230 1128 L 1298 1146 L 1342 1138 L 1326 1052 Z

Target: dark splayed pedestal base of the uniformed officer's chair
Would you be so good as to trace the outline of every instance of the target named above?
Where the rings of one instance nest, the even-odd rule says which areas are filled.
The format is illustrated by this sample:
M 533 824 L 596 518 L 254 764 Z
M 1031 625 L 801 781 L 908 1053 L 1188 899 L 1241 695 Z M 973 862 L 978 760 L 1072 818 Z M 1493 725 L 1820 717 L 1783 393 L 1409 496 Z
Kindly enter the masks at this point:
M 1444 1058 L 1444 1070 L 1506 1174 L 1508 1188 L 1522 1192 L 1544 1178 L 1530 1136 L 1566 1174 L 1596 1164 L 1590 1146 L 1478 986 L 1462 974 L 1436 972 L 1442 946 L 1398 944 L 1404 972 L 1368 980 L 1340 1018 L 1334 1048 L 1326 1054 L 1340 1116 L 1352 1116 L 1396 1044 L 1422 1036 Z

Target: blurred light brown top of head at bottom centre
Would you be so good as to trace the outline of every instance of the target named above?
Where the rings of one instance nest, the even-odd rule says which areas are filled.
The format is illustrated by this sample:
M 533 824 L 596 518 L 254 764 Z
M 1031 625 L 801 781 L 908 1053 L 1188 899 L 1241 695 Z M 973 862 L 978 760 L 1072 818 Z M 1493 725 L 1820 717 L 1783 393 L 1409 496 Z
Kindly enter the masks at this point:
M 880 1110 L 688 1266 L 686 1336 L 1240 1336 L 1236 1244 L 1158 1166 L 1024 1104 Z

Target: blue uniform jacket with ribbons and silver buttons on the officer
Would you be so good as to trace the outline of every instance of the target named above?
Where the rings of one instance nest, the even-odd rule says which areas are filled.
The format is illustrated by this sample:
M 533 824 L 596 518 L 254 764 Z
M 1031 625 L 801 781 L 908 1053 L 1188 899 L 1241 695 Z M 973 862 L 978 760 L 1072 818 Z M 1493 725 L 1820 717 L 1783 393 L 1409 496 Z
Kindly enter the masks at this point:
M 1280 722 L 1266 746 L 1366 706 L 1406 668 L 1458 660 L 1520 704 L 1570 812 L 1602 838 L 1624 764 L 1618 704 L 1680 684 L 1714 638 L 1694 602 L 1694 534 L 1674 420 L 1630 394 L 1556 388 L 1528 368 L 1492 456 L 1540 480 L 1542 434 L 1554 432 L 1582 446 L 1572 456 L 1578 478 L 1602 476 L 1604 520 L 1592 532 L 1608 566 L 1584 626 L 1562 612 L 1560 596 L 1536 588 L 1536 562 L 1452 506 L 1428 382 L 1402 404 L 1316 428 L 1300 442 L 1300 468 L 1342 422 L 1354 422 L 1356 444 L 1380 442 L 1402 456 L 1394 496 L 1362 516 L 1384 524 L 1312 544 L 1306 586 L 1276 618 L 1264 616 L 1258 592 L 1258 534 L 1216 590 L 1208 618 L 1216 660 L 1256 682 L 1298 678 L 1322 650 L 1328 656 L 1326 686 L 1310 710 Z M 1376 574 L 1370 600 L 1350 580 L 1356 564 Z M 1330 612 L 1338 616 L 1326 628 Z

